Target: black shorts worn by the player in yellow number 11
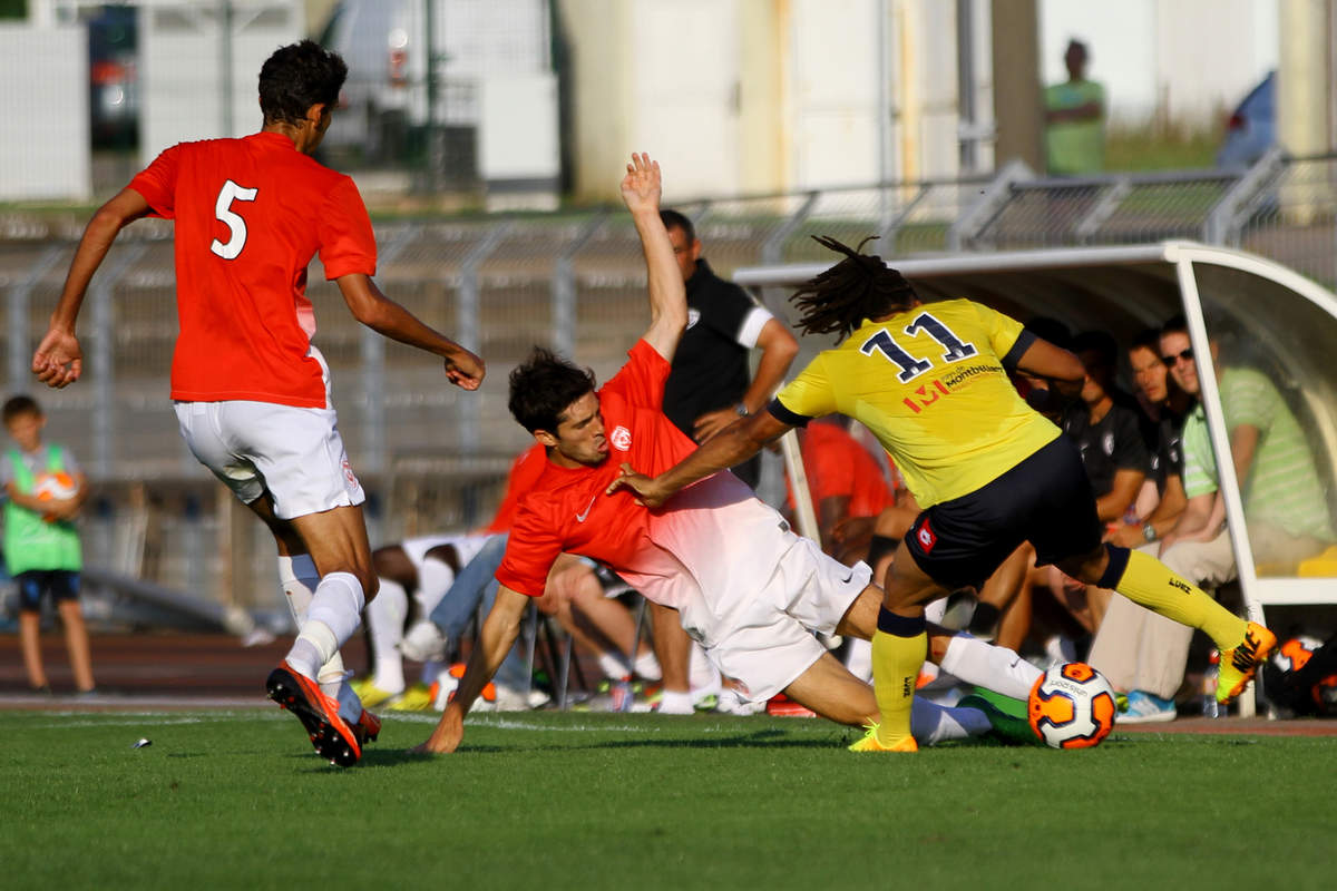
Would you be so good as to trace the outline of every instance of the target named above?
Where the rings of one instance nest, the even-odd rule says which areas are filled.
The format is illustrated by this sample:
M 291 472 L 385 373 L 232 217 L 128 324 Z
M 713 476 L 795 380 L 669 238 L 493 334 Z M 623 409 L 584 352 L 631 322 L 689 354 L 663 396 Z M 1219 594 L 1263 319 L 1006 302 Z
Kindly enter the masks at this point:
M 905 534 L 915 562 L 945 588 L 979 588 L 1023 541 L 1036 564 L 1084 554 L 1104 525 L 1076 445 L 1060 435 L 975 492 L 928 508 Z

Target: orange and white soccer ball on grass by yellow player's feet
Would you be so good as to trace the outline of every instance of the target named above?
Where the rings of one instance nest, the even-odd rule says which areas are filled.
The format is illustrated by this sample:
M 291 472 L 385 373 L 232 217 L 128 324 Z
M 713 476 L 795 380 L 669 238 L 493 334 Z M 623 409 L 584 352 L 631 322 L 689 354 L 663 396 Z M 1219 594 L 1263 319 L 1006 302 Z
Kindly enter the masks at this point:
M 1035 681 L 1027 711 L 1052 748 L 1090 748 L 1114 728 L 1114 688 L 1086 663 L 1064 663 Z

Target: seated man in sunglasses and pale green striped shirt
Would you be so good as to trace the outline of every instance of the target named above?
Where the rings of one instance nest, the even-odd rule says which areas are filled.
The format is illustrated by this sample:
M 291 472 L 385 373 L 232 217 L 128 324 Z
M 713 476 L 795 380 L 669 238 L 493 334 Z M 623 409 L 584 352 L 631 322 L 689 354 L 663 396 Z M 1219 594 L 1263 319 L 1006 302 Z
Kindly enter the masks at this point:
M 1318 473 L 1296 417 L 1265 375 L 1222 362 L 1217 338 L 1210 349 L 1253 550 L 1262 560 L 1284 564 L 1318 553 L 1334 536 Z M 1199 397 L 1198 366 L 1182 319 L 1163 329 L 1161 355 L 1174 382 Z M 1158 556 L 1194 584 L 1225 584 L 1235 577 L 1235 556 L 1225 526 L 1217 456 L 1201 403 L 1183 426 L 1183 489 L 1187 504 L 1174 526 L 1165 536 L 1158 533 L 1161 540 L 1143 545 L 1142 550 Z M 1142 609 L 1132 604 L 1130 608 Z M 1130 693 L 1130 711 L 1120 720 L 1174 720 L 1174 696 L 1183 684 L 1191 629 L 1147 620 L 1132 633 L 1118 629 L 1118 640 L 1098 639 L 1091 663 L 1100 671 L 1110 667 L 1127 689 L 1155 697 L 1135 709 Z M 1136 653 L 1131 677 L 1119 663 L 1111 663 L 1110 653 L 1115 649 Z

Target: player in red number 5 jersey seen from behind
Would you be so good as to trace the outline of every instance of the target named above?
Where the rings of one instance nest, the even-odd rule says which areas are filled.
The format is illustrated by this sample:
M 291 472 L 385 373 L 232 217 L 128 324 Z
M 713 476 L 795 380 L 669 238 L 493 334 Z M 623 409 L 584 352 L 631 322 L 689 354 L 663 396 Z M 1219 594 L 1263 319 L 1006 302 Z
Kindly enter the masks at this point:
M 175 222 L 180 334 L 171 398 L 182 435 L 274 533 L 299 635 L 266 688 L 301 719 L 317 752 L 345 767 L 380 728 L 338 659 L 376 594 L 376 574 L 362 488 L 336 427 L 329 369 L 312 343 L 312 258 L 320 254 L 358 322 L 441 357 L 447 379 L 465 390 L 484 374 L 479 357 L 381 294 L 357 187 L 310 156 L 346 76 L 344 60 L 316 43 L 281 47 L 259 72 L 261 132 L 174 146 L 103 204 L 32 358 L 49 386 L 79 379 L 75 322 L 116 235 L 142 216 Z

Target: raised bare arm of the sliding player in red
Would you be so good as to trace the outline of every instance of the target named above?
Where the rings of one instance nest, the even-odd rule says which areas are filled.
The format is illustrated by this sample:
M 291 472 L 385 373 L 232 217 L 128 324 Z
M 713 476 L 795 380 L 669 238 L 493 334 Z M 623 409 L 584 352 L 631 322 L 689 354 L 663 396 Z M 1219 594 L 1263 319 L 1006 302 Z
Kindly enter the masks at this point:
M 643 339 L 663 358 L 673 361 L 678 341 L 687 327 L 687 287 L 673 255 L 668 230 L 659 219 L 659 163 L 650 155 L 632 154 L 622 179 L 622 200 L 640 235 L 646 254 L 650 293 L 650 329 Z

